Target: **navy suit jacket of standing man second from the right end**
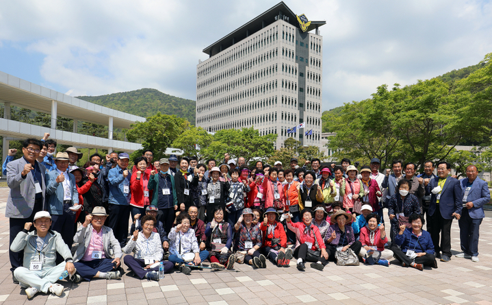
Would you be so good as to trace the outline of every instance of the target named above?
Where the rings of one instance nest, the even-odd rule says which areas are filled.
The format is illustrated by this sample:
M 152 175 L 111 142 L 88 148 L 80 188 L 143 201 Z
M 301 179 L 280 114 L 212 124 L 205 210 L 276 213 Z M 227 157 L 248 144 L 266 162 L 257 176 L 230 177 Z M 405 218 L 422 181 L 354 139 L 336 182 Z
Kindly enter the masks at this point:
M 439 182 L 439 177 L 430 180 L 430 189 L 434 189 Z M 452 177 L 446 178 L 444 187 L 441 191 L 441 198 L 439 199 L 439 211 L 443 219 L 452 219 L 452 214 L 461 215 L 461 209 L 463 208 L 463 193 L 461 190 L 460 182 Z M 437 196 L 432 194 L 430 198 L 430 206 L 428 213 L 430 216 L 434 215 L 437 208 Z

